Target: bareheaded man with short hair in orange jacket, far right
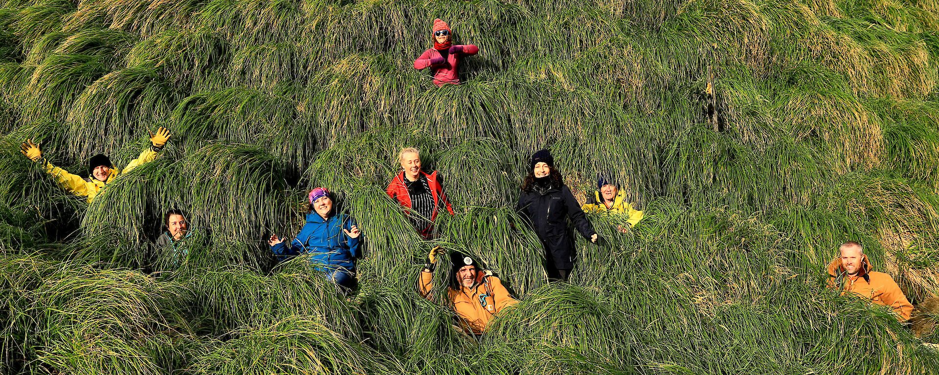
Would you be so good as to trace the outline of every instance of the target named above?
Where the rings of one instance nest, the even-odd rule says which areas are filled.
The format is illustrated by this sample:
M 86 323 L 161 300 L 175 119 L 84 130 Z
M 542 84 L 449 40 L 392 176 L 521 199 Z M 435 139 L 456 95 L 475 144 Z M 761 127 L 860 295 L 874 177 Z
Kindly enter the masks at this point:
M 893 308 L 897 320 L 906 322 L 913 305 L 906 299 L 897 282 L 883 272 L 870 271 L 870 261 L 861 244 L 848 241 L 839 247 L 841 255 L 828 264 L 828 287 L 842 294 L 854 293 L 870 302 Z

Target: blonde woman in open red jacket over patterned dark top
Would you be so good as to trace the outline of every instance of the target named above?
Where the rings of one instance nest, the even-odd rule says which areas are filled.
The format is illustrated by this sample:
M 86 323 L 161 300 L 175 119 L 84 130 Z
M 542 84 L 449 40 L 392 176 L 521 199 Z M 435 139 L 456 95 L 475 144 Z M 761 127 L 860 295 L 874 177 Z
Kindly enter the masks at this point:
M 429 239 L 440 207 L 446 207 L 447 212 L 454 215 L 454 207 L 443 192 L 443 177 L 437 171 L 424 173 L 421 170 L 421 152 L 414 147 L 402 149 L 398 161 L 401 172 L 394 176 L 386 192 L 404 207 L 414 229 Z

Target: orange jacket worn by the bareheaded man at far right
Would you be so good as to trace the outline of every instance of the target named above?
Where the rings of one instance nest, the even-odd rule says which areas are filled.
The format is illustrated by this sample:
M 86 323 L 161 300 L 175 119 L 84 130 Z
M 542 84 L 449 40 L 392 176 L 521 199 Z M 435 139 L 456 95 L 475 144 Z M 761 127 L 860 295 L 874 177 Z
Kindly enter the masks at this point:
M 870 268 L 870 261 L 865 254 L 864 259 L 861 260 L 861 269 L 857 271 L 857 275 L 850 277 L 845 274 L 841 258 L 835 258 L 828 264 L 828 286 L 840 288 L 841 294 L 851 292 L 870 299 L 870 302 L 877 305 L 889 306 L 900 315 L 898 320 L 901 322 L 909 320 L 910 314 L 913 313 L 913 305 L 910 305 L 910 301 L 903 295 L 900 286 L 893 278 L 890 278 L 890 275 L 872 272 Z

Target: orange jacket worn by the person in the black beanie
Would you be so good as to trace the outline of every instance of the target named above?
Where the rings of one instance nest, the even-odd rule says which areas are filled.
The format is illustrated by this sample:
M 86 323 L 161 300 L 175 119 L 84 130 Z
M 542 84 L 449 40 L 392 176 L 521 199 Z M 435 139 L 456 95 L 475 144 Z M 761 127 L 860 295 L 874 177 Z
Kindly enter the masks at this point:
M 421 272 L 420 292 L 424 298 L 431 299 L 430 290 L 434 288 L 433 281 L 433 273 Z M 447 288 L 447 298 L 453 305 L 454 311 L 462 318 L 460 326 L 463 330 L 475 335 L 485 332 L 486 325 L 502 308 L 518 303 L 502 286 L 499 278 L 487 275 L 485 272 L 476 274 L 475 287 L 460 287 L 460 291 Z M 483 301 L 485 301 L 485 306 Z

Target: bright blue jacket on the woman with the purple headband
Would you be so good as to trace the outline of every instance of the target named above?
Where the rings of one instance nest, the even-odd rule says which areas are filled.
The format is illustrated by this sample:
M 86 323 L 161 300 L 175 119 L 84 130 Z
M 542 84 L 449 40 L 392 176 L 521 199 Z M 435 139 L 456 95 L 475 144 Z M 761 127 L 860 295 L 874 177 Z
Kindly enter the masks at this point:
M 270 247 L 274 255 L 308 255 L 310 263 L 316 269 L 345 268 L 349 272 L 355 271 L 355 257 L 359 255 L 359 239 L 349 238 L 343 229 L 351 231 L 356 225 L 355 220 L 345 214 L 333 215 L 331 218 L 323 217 L 311 212 L 306 216 L 306 224 L 297 234 L 297 238 Z

